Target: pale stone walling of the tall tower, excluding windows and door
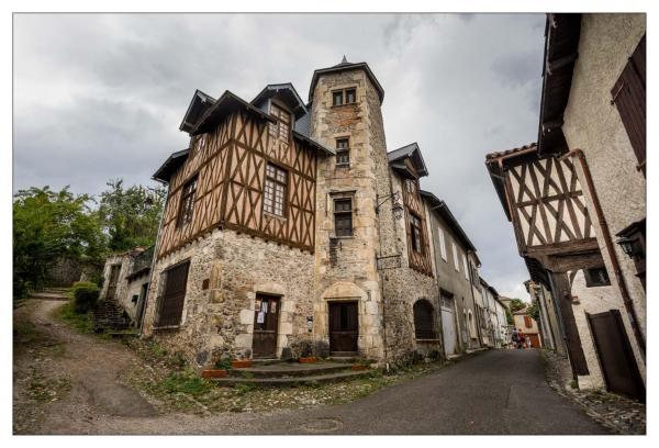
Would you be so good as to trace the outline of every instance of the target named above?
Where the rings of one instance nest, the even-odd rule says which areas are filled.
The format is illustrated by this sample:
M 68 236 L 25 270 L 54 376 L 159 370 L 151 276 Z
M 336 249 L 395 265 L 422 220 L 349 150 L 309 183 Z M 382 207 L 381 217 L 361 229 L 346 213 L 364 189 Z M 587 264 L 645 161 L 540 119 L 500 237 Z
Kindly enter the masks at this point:
M 333 107 L 332 91 L 348 87 L 356 88 L 357 102 Z M 367 357 L 380 359 L 383 356 L 382 303 L 376 268 L 378 228 L 373 156 L 381 158 L 377 149 L 382 148 L 372 147 L 368 130 L 381 127 L 382 123 L 373 121 L 367 101 L 373 91 L 362 70 L 321 76 L 314 91 L 313 138 L 336 147 L 336 138 L 349 137 L 350 146 L 349 167 L 337 167 L 334 157 L 319 161 L 314 334 L 316 338 L 330 341 L 327 302 L 357 300 L 358 349 Z M 334 200 L 339 198 L 353 200 L 350 237 L 336 237 L 334 233 Z

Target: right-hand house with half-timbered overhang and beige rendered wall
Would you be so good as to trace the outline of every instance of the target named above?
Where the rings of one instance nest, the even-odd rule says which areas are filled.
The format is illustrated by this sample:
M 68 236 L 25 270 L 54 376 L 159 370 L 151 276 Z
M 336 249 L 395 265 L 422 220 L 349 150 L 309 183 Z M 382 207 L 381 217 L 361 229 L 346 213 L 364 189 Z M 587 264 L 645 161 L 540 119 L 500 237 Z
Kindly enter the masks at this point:
M 645 33 L 645 14 L 548 14 L 538 143 L 487 157 L 530 278 L 557 303 L 579 385 L 639 400 Z

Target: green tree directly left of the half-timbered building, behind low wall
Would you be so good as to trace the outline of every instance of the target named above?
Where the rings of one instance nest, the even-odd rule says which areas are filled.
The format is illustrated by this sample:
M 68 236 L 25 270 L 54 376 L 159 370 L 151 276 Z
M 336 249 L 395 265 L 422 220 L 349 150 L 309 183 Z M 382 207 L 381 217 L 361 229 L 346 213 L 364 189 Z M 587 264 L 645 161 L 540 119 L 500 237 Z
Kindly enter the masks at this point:
M 108 235 L 108 249 L 127 250 L 155 244 L 167 190 L 124 188 L 122 179 L 109 181 L 108 187 L 101 193 L 98 210 L 102 231 Z

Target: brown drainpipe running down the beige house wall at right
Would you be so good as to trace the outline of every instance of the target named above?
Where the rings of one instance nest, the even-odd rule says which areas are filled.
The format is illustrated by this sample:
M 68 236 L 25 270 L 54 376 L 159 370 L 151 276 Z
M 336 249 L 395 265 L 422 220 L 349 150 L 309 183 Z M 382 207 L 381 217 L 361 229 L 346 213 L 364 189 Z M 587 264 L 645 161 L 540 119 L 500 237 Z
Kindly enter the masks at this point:
M 625 278 L 623 277 L 621 265 L 618 262 L 617 255 L 615 253 L 615 247 L 613 245 L 613 238 L 611 237 L 611 232 L 608 229 L 608 225 L 606 224 L 606 219 L 604 217 L 602 206 L 600 205 L 600 198 L 597 197 L 597 192 L 595 191 L 595 184 L 593 183 L 590 167 L 588 166 L 588 161 L 585 160 L 585 154 L 583 154 L 583 150 L 576 148 L 561 156 L 559 160 L 562 160 L 567 157 L 578 158 L 583 170 L 583 177 L 585 178 L 585 183 L 591 193 L 593 208 L 595 209 L 597 222 L 600 224 L 600 228 L 602 229 L 602 237 L 604 238 L 606 251 L 608 253 L 608 258 L 611 260 L 611 265 L 613 266 L 613 272 L 615 273 L 615 279 L 621 290 L 621 295 L 623 296 L 623 303 L 625 304 L 625 310 L 627 311 L 627 316 L 629 317 L 629 322 L 632 323 L 632 329 L 634 331 L 634 336 L 636 337 L 636 343 L 638 344 L 638 348 L 640 349 L 641 358 L 645 363 L 645 339 L 638 326 L 636 309 L 634 307 L 634 303 L 632 302 L 632 298 L 629 296 L 629 291 L 627 289 L 627 283 L 625 282 Z

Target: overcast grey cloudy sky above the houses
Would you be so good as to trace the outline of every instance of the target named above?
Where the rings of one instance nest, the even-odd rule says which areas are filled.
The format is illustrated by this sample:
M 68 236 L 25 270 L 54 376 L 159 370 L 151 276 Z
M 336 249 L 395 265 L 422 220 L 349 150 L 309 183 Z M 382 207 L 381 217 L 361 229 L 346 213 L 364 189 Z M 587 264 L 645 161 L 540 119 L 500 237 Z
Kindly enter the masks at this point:
M 14 191 L 112 178 L 150 184 L 187 147 L 194 89 L 252 100 L 313 70 L 367 61 L 384 88 L 388 150 L 417 142 L 429 176 L 478 248 L 481 275 L 526 299 L 528 278 L 484 155 L 537 137 L 544 14 L 16 14 Z

